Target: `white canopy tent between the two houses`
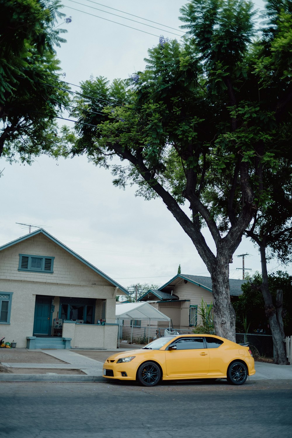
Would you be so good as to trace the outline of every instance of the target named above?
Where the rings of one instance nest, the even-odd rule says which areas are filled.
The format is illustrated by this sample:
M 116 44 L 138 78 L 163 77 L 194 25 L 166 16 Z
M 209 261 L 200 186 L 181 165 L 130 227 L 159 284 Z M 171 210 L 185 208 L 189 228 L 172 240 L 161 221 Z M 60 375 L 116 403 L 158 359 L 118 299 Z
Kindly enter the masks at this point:
M 170 332 L 171 319 L 164 313 L 155 309 L 155 307 L 151 306 L 149 303 L 146 303 L 146 301 L 141 303 L 116 304 L 116 319 L 119 320 L 118 348 L 120 348 L 120 320 L 122 319 L 141 319 L 149 321 L 148 342 L 150 336 L 151 319 L 154 319 L 156 321 L 168 321 Z M 131 342 L 133 336 L 133 325 L 134 324 L 132 324 Z

